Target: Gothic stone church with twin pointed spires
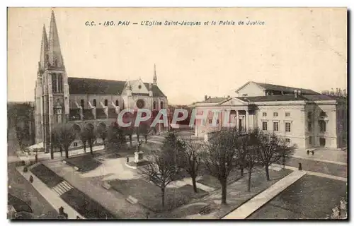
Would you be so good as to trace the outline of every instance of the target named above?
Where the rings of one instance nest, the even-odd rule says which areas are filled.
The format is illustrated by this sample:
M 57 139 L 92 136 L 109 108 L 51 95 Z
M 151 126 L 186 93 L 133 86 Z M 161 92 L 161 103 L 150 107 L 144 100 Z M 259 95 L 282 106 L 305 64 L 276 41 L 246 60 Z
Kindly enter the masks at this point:
M 157 86 L 156 67 L 152 83 L 68 77 L 52 11 L 49 36 L 43 25 L 40 61 L 35 84 L 35 141 L 50 150 L 50 135 L 57 124 L 71 123 L 82 129 L 85 122 L 107 126 L 120 109 L 168 107 Z

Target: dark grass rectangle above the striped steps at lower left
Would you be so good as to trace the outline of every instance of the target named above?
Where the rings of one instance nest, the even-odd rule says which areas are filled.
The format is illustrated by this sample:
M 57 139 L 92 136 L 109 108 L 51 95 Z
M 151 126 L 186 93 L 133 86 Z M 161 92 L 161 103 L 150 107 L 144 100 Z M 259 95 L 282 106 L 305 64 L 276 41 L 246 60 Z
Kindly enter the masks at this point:
M 51 189 L 60 182 L 63 182 L 64 179 L 59 177 L 55 172 L 52 172 L 48 167 L 43 164 L 37 165 L 30 169 L 30 172 L 35 174 L 38 179 L 40 179 L 43 183 L 47 184 L 48 187 Z

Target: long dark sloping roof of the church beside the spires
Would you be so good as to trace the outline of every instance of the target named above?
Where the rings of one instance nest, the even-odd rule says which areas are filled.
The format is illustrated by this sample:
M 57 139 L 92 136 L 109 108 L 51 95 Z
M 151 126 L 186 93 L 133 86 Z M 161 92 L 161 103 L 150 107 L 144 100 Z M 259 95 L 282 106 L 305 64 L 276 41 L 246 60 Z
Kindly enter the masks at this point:
M 120 95 L 126 81 L 105 80 L 96 78 L 68 78 L 70 94 Z M 149 83 L 144 83 L 149 90 Z M 157 85 L 152 85 L 154 97 L 166 97 Z

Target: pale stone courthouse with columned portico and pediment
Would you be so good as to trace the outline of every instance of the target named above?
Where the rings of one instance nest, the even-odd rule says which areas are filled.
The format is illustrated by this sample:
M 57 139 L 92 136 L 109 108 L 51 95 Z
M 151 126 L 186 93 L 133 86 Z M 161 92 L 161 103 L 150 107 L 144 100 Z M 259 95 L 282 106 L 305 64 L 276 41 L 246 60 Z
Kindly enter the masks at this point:
M 240 131 L 274 132 L 298 148 L 342 148 L 347 145 L 347 106 L 345 97 L 250 81 L 236 90 L 236 97 L 205 96 L 196 102 L 198 117 L 207 109 L 222 113 L 215 116 L 216 126 L 213 112 L 206 115 L 205 124 L 197 119 L 195 136 L 223 129 L 227 126 L 222 120 L 227 120 Z

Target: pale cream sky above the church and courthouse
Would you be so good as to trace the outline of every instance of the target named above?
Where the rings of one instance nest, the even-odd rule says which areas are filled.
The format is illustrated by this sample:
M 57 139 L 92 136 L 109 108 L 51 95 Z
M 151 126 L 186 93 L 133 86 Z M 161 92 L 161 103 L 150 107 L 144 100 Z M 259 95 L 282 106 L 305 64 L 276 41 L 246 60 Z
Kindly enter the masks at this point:
M 346 8 L 8 8 L 8 101 L 34 100 L 52 9 L 69 77 L 152 82 L 156 64 L 169 104 L 236 95 L 248 81 L 318 92 L 347 87 Z M 141 25 L 146 20 L 202 25 Z M 104 21 L 130 25 L 98 25 Z

